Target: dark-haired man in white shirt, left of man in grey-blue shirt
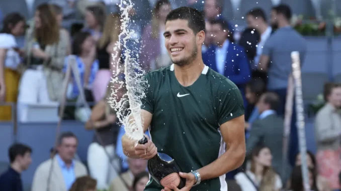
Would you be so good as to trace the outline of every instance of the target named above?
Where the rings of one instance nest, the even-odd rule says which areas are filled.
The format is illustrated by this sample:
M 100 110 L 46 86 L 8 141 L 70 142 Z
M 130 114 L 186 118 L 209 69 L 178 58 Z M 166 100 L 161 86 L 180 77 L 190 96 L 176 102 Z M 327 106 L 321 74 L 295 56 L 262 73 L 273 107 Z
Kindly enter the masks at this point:
M 254 64 L 257 66 L 262 55 L 262 49 L 272 33 L 272 28 L 267 22 L 265 12 L 261 8 L 255 8 L 246 14 L 248 27 L 257 30 L 261 34 L 261 40 L 257 46 L 257 56 L 254 58 Z

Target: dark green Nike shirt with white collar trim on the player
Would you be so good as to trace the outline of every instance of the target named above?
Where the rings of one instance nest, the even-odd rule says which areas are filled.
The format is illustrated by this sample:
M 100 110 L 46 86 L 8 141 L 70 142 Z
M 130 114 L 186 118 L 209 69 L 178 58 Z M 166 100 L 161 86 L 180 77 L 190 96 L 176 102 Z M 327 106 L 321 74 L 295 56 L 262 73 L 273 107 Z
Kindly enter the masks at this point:
M 153 114 L 150 136 L 158 152 L 174 158 L 183 172 L 197 170 L 225 152 L 219 126 L 244 114 L 237 86 L 205 66 L 200 77 L 182 86 L 174 65 L 146 74 L 149 87 L 142 109 Z M 162 187 L 152 178 L 147 191 Z M 225 175 L 202 181 L 196 191 L 227 190 Z

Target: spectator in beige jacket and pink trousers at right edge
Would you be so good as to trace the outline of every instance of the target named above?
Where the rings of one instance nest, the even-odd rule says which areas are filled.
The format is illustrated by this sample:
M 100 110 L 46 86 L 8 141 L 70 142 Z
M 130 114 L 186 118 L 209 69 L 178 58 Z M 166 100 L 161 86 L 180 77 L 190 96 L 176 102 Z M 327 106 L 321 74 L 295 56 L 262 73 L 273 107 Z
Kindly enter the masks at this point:
M 315 136 L 317 141 L 317 167 L 321 176 L 329 181 L 332 189 L 339 188 L 338 173 L 341 171 L 341 85 L 325 84 L 326 104 L 317 112 Z

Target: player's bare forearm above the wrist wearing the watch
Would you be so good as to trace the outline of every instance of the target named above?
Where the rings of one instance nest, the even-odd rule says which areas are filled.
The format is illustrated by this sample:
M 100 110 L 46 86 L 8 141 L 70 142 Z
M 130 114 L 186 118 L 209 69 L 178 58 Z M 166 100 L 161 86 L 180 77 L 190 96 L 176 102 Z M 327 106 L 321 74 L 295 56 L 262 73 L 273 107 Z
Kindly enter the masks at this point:
M 230 147 L 223 155 L 212 163 L 200 168 L 198 172 L 200 173 L 201 179 L 211 179 L 219 177 L 238 168 L 245 159 L 245 146 L 241 148 L 238 146 L 236 148 Z

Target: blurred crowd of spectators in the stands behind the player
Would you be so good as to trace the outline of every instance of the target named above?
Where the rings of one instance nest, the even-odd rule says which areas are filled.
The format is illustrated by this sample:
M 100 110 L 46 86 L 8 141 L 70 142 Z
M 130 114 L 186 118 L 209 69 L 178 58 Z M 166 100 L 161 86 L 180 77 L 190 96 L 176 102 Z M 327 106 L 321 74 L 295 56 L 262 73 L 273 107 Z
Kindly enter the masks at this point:
M 172 64 L 164 47 L 164 21 L 171 10 L 183 4 L 147 1 L 150 18 L 144 14 L 146 10 L 140 9 L 142 6 L 135 6 L 129 14 L 136 22 L 128 27 L 136 31 L 130 39 L 137 38 L 140 44 L 118 48 L 121 13 L 115 4 L 119 2 L 65 2 L 37 6 L 28 21 L 18 12 L 4 16 L 0 31 L 0 102 L 16 103 L 17 113 L 11 106 L 0 106 L 0 120 L 12 120 L 15 115 L 18 121 L 26 122 L 32 106 L 58 108 L 66 90 L 67 102 L 74 104 L 65 107 L 63 119 L 81 120 L 86 122 L 84 128 L 95 131 L 87 164 L 77 159 L 77 137 L 64 132 L 51 149 L 50 159 L 36 169 L 29 190 L 142 191 L 149 179 L 147 161 L 123 153 L 124 128 L 107 103 L 111 89 L 117 88 L 110 80 L 113 70 L 122 72 L 126 49 L 140 52 L 139 64 L 146 72 Z M 254 4 L 243 15 L 247 25 L 236 34 L 233 21 L 223 14 L 224 3 L 206 0 L 185 5 L 201 10 L 206 19 L 204 63 L 234 82 L 244 99 L 247 162 L 227 174 L 228 189 L 303 191 L 295 101 L 290 109 L 287 159 L 283 157 L 283 137 L 292 78 L 291 52 L 299 52 L 304 63 L 306 40 L 290 26 L 290 6 L 278 4 L 267 14 Z M 70 9 L 77 12 L 84 25 L 63 28 L 63 20 L 71 17 L 67 14 Z M 23 46 L 18 40 L 21 36 Z M 64 83 L 70 70 L 71 78 Z M 124 81 L 124 75 L 118 78 Z M 125 93 L 125 89 L 119 89 L 117 97 Z M 83 95 L 87 102 L 94 103 L 89 114 L 77 104 Z M 325 104 L 315 117 L 317 153 L 308 151 L 306 162 L 311 190 L 334 191 L 341 189 L 341 85 L 326 83 L 323 97 Z M 0 176 L 1 190 L 23 190 L 20 174 L 30 166 L 32 152 L 29 145 L 21 143 L 9 148 L 11 165 Z

